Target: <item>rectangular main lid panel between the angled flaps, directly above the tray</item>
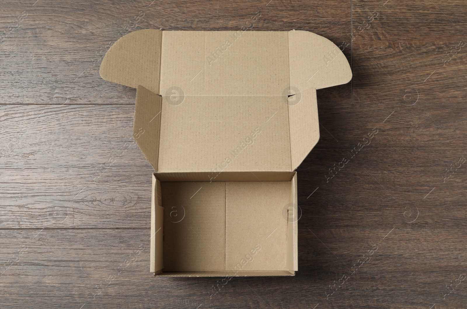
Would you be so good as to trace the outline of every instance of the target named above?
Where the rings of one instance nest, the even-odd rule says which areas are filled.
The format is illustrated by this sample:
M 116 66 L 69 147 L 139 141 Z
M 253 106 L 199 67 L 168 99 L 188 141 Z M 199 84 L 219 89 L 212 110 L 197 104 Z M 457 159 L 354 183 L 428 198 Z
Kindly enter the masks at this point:
M 183 104 L 163 104 L 161 115 L 157 172 L 209 172 L 219 164 L 226 166 L 227 157 L 232 161 L 229 171 L 292 170 L 287 104 L 281 97 L 185 93 Z

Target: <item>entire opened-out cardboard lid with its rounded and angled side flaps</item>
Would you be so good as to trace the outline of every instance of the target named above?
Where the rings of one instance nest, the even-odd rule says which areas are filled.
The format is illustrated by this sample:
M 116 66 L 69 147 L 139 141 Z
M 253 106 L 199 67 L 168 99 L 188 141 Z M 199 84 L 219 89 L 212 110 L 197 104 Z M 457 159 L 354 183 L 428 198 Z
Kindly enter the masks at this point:
M 216 175 L 297 169 L 319 139 L 316 89 L 352 77 L 333 42 L 295 30 L 139 30 L 114 43 L 100 74 L 162 95 L 156 106 L 142 95 L 134 125 L 141 133 L 136 122 L 160 112 L 137 141 L 157 171 Z

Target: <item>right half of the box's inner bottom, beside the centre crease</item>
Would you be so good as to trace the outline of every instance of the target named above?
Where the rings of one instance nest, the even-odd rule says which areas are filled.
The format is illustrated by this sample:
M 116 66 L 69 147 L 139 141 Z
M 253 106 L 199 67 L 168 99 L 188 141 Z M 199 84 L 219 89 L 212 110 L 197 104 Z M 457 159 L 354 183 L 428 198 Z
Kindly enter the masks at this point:
M 234 267 L 256 245 L 261 247 L 260 252 L 242 271 L 288 270 L 288 222 L 282 209 L 290 195 L 290 182 L 226 183 L 225 270 L 238 270 Z

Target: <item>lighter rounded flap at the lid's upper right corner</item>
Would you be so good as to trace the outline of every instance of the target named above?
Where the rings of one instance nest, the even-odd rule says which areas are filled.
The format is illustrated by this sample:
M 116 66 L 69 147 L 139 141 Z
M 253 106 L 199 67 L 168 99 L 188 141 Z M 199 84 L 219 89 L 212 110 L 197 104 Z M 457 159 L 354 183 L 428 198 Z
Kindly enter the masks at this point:
M 309 31 L 289 31 L 290 88 L 305 91 L 346 84 L 352 70 L 333 42 Z

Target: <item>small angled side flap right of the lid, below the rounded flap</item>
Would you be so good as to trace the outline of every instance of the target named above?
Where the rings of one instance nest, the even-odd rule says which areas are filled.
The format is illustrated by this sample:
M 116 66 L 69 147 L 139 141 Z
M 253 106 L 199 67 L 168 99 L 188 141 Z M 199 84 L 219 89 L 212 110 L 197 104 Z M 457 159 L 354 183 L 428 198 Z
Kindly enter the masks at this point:
M 289 101 L 290 155 L 292 169 L 303 162 L 319 140 L 318 104 L 314 88 L 299 92 Z M 289 99 L 290 99 L 289 98 Z

